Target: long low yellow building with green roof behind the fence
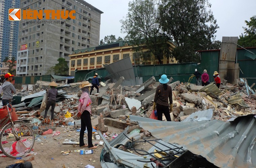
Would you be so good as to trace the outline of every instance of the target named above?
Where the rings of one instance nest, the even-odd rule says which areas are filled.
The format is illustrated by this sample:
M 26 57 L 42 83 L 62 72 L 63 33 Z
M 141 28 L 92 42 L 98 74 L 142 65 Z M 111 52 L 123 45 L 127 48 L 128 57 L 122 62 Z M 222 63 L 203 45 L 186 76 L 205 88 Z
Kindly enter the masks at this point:
M 172 50 L 175 45 L 169 42 Z M 147 50 L 143 50 L 147 52 Z M 154 65 L 159 64 L 157 58 L 148 52 L 143 59 L 140 58 L 140 52 L 134 52 L 132 45 L 124 41 L 102 44 L 97 47 L 91 47 L 81 50 L 75 50 L 69 55 L 69 75 L 74 76 L 75 70 L 91 70 L 103 67 L 103 64 L 111 64 L 120 59 L 130 57 L 132 65 Z M 163 64 L 177 63 L 174 58 L 162 57 Z

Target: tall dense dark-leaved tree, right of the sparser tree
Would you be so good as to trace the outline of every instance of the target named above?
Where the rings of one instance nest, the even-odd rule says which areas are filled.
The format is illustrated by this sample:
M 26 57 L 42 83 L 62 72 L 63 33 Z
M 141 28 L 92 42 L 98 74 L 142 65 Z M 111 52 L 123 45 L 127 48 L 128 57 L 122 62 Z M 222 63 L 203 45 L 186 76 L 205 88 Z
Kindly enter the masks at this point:
M 197 50 L 212 47 L 219 26 L 208 0 L 161 0 L 160 24 L 177 44 L 172 56 L 179 62 L 199 61 Z

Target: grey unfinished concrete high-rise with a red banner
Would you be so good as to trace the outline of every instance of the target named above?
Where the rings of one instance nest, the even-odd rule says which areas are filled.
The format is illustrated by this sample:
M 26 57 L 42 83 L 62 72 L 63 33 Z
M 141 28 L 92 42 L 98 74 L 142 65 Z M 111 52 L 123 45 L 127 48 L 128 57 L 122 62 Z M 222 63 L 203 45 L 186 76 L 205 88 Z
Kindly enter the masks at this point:
M 74 50 L 98 46 L 100 18 L 103 13 L 83 0 L 21 0 L 21 10 L 37 10 L 42 18 L 19 21 L 19 47 L 17 54 L 17 76 L 45 75 L 47 70 Z M 75 19 L 52 19 L 45 10 L 72 11 Z M 27 12 L 27 16 L 28 16 Z M 32 12 L 33 13 L 33 12 Z M 57 14 L 58 15 L 58 14 Z

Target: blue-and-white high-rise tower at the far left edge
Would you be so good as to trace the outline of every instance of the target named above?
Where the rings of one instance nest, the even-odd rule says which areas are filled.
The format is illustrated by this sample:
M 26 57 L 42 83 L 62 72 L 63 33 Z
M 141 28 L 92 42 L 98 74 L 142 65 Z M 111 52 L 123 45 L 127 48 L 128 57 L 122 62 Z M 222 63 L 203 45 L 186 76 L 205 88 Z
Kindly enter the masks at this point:
M 19 22 L 10 21 L 10 8 L 20 8 L 20 0 L 0 0 L 0 57 L 16 57 L 18 48 Z

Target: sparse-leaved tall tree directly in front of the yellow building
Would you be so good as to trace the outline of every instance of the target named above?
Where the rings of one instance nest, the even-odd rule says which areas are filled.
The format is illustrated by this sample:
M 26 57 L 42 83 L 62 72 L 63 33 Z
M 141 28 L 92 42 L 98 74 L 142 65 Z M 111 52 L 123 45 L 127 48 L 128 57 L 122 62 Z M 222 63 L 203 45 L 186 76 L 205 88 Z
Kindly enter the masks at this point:
M 121 31 L 127 33 L 127 40 L 134 46 L 135 52 L 140 51 L 142 45 L 148 49 L 160 64 L 163 55 L 169 56 L 168 38 L 161 31 L 159 24 L 158 4 L 154 0 L 133 0 L 129 2 L 128 13 L 123 20 Z M 146 53 L 148 55 L 148 53 Z

